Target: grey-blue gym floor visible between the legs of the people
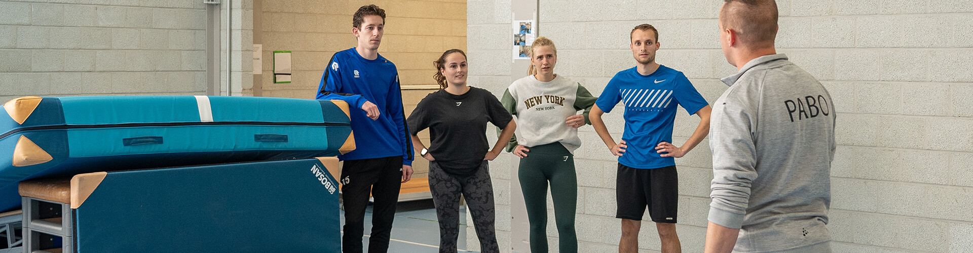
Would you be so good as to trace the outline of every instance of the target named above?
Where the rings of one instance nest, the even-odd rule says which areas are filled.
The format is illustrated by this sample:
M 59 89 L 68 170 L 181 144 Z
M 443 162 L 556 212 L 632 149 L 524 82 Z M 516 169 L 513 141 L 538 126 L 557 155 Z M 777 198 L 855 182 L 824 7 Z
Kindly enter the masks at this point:
M 388 252 L 439 252 L 439 222 L 432 200 L 400 202 L 392 224 Z M 344 211 L 342 210 L 342 226 Z M 466 207 L 459 207 L 458 252 L 466 251 Z M 342 231 L 342 235 L 343 235 Z M 369 234 L 372 233 L 372 206 L 365 210 L 365 236 L 362 237 L 364 252 L 368 252 Z

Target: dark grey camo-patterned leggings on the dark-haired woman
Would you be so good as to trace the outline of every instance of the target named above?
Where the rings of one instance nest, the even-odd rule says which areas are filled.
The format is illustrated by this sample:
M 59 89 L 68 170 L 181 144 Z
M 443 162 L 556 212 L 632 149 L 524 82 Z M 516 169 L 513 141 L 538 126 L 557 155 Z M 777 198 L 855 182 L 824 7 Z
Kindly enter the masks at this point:
M 493 185 L 489 180 L 489 167 L 484 161 L 473 175 L 461 177 L 443 171 L 439 163 L 429 163 L 429 190 L 436 217 L 439 218 L 439 252 L 456 252 L 459 236 L 459 196 L 466 197 L 473 225 L 480 237 L 480 249 L 484 253 L 500 252 L 496 244 L 493 207 Z

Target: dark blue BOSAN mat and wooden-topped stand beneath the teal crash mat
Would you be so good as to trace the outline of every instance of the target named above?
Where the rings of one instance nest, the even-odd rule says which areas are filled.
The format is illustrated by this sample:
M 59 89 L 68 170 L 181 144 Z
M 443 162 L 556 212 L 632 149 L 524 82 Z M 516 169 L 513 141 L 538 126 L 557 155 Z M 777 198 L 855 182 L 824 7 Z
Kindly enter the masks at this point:
M 318 158 L 23 181 L 25 252 L 341 252 L 337 168 Z M 42 217 L 53 208 L 38 202 L 66 214 Z M 38 248 L 44 235 L 61 248 Z

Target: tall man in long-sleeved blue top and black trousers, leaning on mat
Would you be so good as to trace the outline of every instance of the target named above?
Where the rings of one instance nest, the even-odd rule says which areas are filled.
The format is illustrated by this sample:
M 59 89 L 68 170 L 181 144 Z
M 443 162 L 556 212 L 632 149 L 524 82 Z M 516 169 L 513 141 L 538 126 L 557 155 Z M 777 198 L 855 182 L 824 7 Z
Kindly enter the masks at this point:
M 352 17 L 358 46 L 335 53 L 321 77 L 317 99 L 340 99 L 351 110 L 354 151 L 338 158 L 344 203 L 343 252 L 362 252 L 365 208 L 375 198 L 369 252 L 386 252 L 401 184 L 413 174 L 412 139 L 402 108 L 399 72 L 378 54 L 385 11 L 362 6 Z

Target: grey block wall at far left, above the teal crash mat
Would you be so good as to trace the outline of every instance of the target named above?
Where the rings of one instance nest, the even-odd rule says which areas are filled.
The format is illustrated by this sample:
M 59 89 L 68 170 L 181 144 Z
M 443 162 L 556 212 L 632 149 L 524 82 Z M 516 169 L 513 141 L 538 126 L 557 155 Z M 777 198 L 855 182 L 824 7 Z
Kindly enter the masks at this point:
M 202 1 L 0 1 L 0 101 L 203 94 Z

